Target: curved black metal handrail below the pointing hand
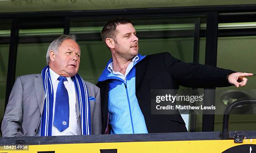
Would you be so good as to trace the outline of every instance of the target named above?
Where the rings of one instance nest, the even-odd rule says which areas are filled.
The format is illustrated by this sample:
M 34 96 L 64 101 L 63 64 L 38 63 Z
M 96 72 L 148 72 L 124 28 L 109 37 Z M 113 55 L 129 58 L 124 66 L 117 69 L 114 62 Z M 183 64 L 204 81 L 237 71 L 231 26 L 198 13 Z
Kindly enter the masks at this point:
M 223 126 L 222 126 L 222 133 L 221 133 L 222 140 L 228 139 L 228 119 L 229 119 L 230 112 L 234 108 L 236 108 L 236 106 L 248 105 L 248 104 L 256 104 L 256 99 L 240 99 L 240 100 L 234 101 L 233 103 L 227 106 L 223 116 Z

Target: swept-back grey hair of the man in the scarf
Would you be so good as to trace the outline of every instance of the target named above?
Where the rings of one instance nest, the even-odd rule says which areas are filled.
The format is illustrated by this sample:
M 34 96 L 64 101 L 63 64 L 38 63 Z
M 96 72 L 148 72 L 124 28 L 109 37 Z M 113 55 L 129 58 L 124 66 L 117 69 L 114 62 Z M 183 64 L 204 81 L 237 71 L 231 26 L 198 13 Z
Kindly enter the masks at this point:
M 55 39 L 53 42 L 51 42 L 51 44 L 48 47 L 47 53 L 46 53 L 46 64 L 47 65 L 49 65 L 50 60 L 51 60 L 50 59 L 50 51 L 53 50 L 54 53 L 57 54 L 60 45 L 62 44 L 62 42 L 64 42 L 67 39 L 71 39 L 71 40 L 74 40 L 74 42 L 76 42 L 77 36 L 76 35 L 61 35 L 60 37 Z M 79 46 L 79 48 L 80 48 L 80 46 Z

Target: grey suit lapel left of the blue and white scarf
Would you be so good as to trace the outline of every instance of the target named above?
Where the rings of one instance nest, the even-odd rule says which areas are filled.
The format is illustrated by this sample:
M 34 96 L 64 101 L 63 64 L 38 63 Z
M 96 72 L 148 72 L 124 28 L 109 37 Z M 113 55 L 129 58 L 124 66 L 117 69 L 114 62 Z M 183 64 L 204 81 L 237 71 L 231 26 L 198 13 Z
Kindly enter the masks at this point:
M 44 85 L 43 85 L 43 79 L 41 74 L 38 74 L 34 79 L 34 86 L 36 91 L 37 103 L 39 106 L 40 113 L 42 114 L 44 109 L 45 92 L 44 92 Z

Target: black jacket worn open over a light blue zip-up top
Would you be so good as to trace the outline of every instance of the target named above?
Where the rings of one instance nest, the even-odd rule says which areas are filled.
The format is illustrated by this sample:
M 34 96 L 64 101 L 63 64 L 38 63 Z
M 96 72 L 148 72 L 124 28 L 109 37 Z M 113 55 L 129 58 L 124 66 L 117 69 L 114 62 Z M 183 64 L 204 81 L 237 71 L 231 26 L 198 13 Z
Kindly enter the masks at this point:
M 144 115 L 148 133 L 186 132 L 182 117 L 151 114 L 151 89 L 179 89 L 179 86 L 205 88 L 231 86 L 227 80 L 231 70 L 184 63 L 168 52 L 146 56 L 136 64 L 136 97 Z M 108 80 L 99 81 L 102 134 L 108 121 Z

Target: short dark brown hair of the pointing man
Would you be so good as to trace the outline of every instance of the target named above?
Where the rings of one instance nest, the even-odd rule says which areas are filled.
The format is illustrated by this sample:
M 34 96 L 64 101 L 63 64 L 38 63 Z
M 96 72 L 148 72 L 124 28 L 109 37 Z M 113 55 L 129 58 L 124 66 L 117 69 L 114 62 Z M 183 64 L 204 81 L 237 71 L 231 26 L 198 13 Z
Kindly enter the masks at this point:
M 120 24 L 127 24 L 131 23 L 131 20 L 128 18 L 118 18 L 109 21 L 101 30 L 101 38 L 102 41 L 105 42 L 106 38 L 112 38 L 115 39 L 115 29 Z

